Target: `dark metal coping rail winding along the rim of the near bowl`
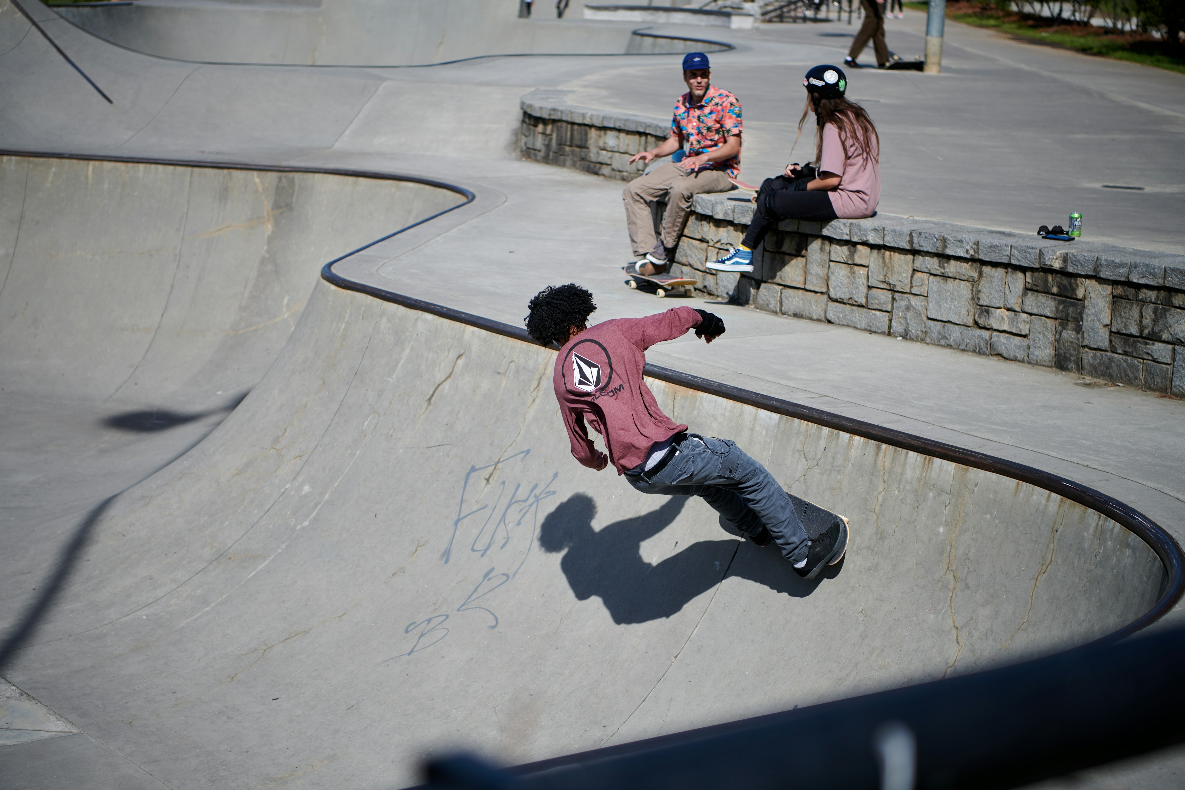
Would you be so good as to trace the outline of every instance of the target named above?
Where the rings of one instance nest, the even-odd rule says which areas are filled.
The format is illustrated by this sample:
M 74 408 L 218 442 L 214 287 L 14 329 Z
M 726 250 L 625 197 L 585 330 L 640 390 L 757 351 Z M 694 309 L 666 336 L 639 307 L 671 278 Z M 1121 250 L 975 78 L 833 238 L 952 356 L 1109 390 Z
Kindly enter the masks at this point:
M 333 271 L 333 266 L 363 250 L 366 250 L 380 242 L 393 238 L 412 227 L 422 225 L 431 219 L 436 219 L 450 211 L 455 211 L 465 205 L 473 203 L 476 195 L 456 185 L 447 184 L 443 181 L 437 181 L 434 179 L 425 179 L 411 175 L 399 175 L 395 173 L 382 173 L 376 171 L 356 171 L 356 169 L 334 169 L 334 168 L 313 168 L 313 167 L 293 167 L 293 166 L 277 166 L 277 165 L 250 165 L 244 162 L 218 162 L 218 161 L 194 161 L 194 160 L 169 160 L 169 159 L 148 159 L 148 158 L 129 158 L 129 156 L 111 156 L 111 155 L 88 155 L 88 154 L 62 154 L 62 153 L 46 153 L 46 152 L 27 152 L 27 150 L 6 150 L 0 149 L 0 155 L 2 156 L 25 156 L 31 159 L 69 159 L 69 160 L 82 160 L 82 161 L 108 161 L 108 162 L 126 162 L 133 165 L 161 165 L 161 166 L 177 166 L 177 167 L 200 167 L 210 169 L 238 169 L 238 171 L 261 171 L 261 172 L 280 172 L 280 173 L 308 173 L 308 174 L 325 174 L 325 175 L 346 175 L 357 178 L 374 178 L 384 179 L 391 181 L 406 181 L 412 184 L 423 184 L 425 186 L 433 186 L 442 190 L 447 190 L 455 194 L 460 194 L 466 199 L 455 206 L 440 211 L 431 217 L 427 217 L 410 225 L 401 227 L 391 233 L 383 236 L 382 238 L 374 239 L 356 250 L 352 250 L 342 256 L 329 261 L 321 268 L 321 277 L 326 282 L 338 288 L 345 290 L 352 290 L 367 296 L 373 296 L 376 298 L 383 300 L 385 302 L 391 302 L 393 304 L 399 304 L 412 310 L 418 310 L 422 313 L 428 313 L 436 315 L 442 319 L 455 321 L 457 323 L 463 323 L 472 326 L 486 332 L 499 334 L 506 338 L 512 338 L 514 340 L 520 340 L 534 346 L 539 343 L 536 342 L 526 333 L 526 329 L 521 327 L 515 327 L 502 321 L 495 321 L 493 319 L 487 319 L 480 315 L 474 315 L 472 313 L 465 313 L 450 307 L 444 307 L 443 304 L 436 304 L 435 302 L 428 302 L 425 300 L 419 300 L 414 296 L 406 296 L 404 294 L 397 294 L 395 291 L 389 291 L 374 285 L 369 285 L 366 283 L 357 282 L 342 277 L 341 275 Z M 555 349 L 555 347 L 552 347 Z M 1048 662 L 1050 660 L 1070 660 L 1071 656 L 1084 656 L 1093 655 L 1100 648 L 1108 647 L 1114 642 L 1117 642 L 1132 634 L 1147 628 L 1152 623 L 1160 619 L 1172 606 L 1181 598 L 1183 592 L 1185 592 L 1185 554 L 1183 554 L 1180 546 L 1160 525 L 1154 522 L 1152 519 L 1140 513 L 1129 505 L 1116 500 L 1113 496 L 1108 496 L 1102 492 L 1095 490 L 1088 486 L 1076 483 L 1071 480 L 1062 477 L 1061 475 L 1055 475 L 1042 469 L 1036 469 L 1033 467 L 1027 467 L 1025 464 L 1016 463 L 1013 461 L 1007 461 L 1005 458 L 998 458 L 984 452 L 978 452 L 975 450 L 967 450 L 965 448 L 956 447 L 954 444 L 947 444 L 946 442 L 937 442 L 935 439 L 929 439 L 922 436 L 915 436 L 912 433 L 907 433 L 904 431 L 898 431 L 891 428 L 884 428 L 875 423 L 869 423 L 865 420 L 854 419 L 851 417 L 845 417 L 843 415 L 837 415 L 833 412 L 824 411 L 821 409 L 813 409 L 811 406 L 805 406 L 790 400 L 783 400 L 781 398 L 774 398 L 771 396 L 766 396 L 760 392 L 752 392 L 750 390 L 743 390 L 741 387 L 735 387 L 728 384 L 722 384 L 719 381 L 713 381 L 711 379 L 705 379 L 698 375 L 691 375 L 681 371 L 675 371 L 667 367 L 661 367 L 658 365 L 646 365 L 646 375 L 655 378 L 660 381 L 667 381 L 670 384 L 675 384 L 678 386 L 684 386 L 690 390 L 696 390 L 704 392 L 706 394 L 718 396 L 728 400 L 735 400 L 737 403 L 743 403 L 745 405 L 754 406 L 756 409 L 763 409 L 777 415 L 786 417 L 792 417 L 795 419 L 801 419 L 808 423 L 814 423 L 816 425 L 822 425 L 824 428 L 831 428 L 837 431 L 843 431 L 846 433 L 852 433 L 854 436 L 860 436 L 863 438 L 871 439 L 873 442 L 879 442 L 890 447 L 901 448 L 904 450 L 910 450 L 914 452 L 920 452 L 934 458 L 942 461 L 948 461 L 952 463 L 962 464 L 966 467 L 982 469 L 985 471 L 991 471 L 1005 477 L 1011 477 L 1020 482 L 1025 482 L 1044 490 L 1052 492 L 1075 501 L 1084 507 L 1088 507 L 1097 513 L 1101 513 L 1115 522 L 1120 524 L 1129 532 L 1136 534 L 1141 540 L 1144 540 L 1160 559 L 1161 565 L 1165 569 L 1166 578 L 1165 585 L 1160 592 L 1160 597 L 1155 605 L 1152 606 L 1146 614 L 1128 623 L 1123 628 L 1120 628 L 1110 634 L 1102 637 L 1087 642 L 1082 646 L 1069 648 L 1061 653 L 1048 656 L 1046 659 L 1038 660 L 1038 662 Z M 1158 636 L 1157 641 L 1166 641 L 1172 637 L 1171 635 Z M 1024 672 L 1026 664 L 1018 664 L 1014 667 L 1005 667 L 999 670 L 991 670 L 987 673 L 978 673 L 968 675 L 960 679 L 943 680 L 931 683 L 924 683 L 922 687 L 917 688 L 933 688 L 935 686 L 943 685 L 963 685 L 976 682 L 973 679 L 984 676 L 997 676 L 998 673 L 1010 674 L 1010 670 Z M 1173 672 L 1176 672 L 1177 660 L 1173 660 Z M 1151 669 L 1151 668 L 1149 668 Z M 1177 673 L 1179 674 L 1179 673 Z M 1004 675 L 999 675 L 1004 676 Z M 1011 676 L 1011 674 L 1010 674 Z M 895 689 L 893 692 L 882 692 L 880 694 L 888 694 L 890 696 L 909 691 L 915 687 L 907 687 L 905 689 Z M 923 692 L 927 694 L 933 694 L 933 692 Z M 873 695 L 880 696 L 880 695 Z M 852 698 L 850 700 L 837 700 L 835 702 L 827 702 L 822 706 L 813 706 L 812 708 L 803 708 L 801 713 L 819 708 L 820 711 L 838 711 L 843 709 L 841 706 L 847 704 L 857 704 L 859 700 L 865 700 L 871 698 Z M 886 698 L 888 699 L 888 698 Z M 840 707 L 837 707 L 840 706 Z M 853 708 L 854 711 L 854 708 Z M 698 731 L 691 731 L 690 733 L 672 733 L 670 736 L 662 736 L 656 739 L 651 739 L 649 741 L 641 741 L 642 744 L 653 744 L 653 746 L 666 746 L 666 745 L 679 745 L 694 746 L 696 741 L 700 741 L 705 736 L 715 733 L 726 733 L 726 732 L 741 732 L 739 728 L 750 726 L 751 724 L 769 720 L 773 721 L 780 717 L 784 717 L 789 713 L 800 713 L 800 711 L 794 712 L 782 712 L 775 714 L 768 714 L 766 717 L 758 717 L 757 719 L 748 719 L 742 721 L 734 721 L 729 724 L 715 725 Z M 1176 717 L 1176 713 L 1174 713 Z M 1179 719 L 1179 717 L 1176 717 Z M 1183 720 L 1185 721 L 1185 720 Z M 1167 732 L 1167 730 L 1166 730 Z M 685 738 L 690 738 L 684 743 Z M 1170 741 L 1165 741 L 1170 743 Z M 649 747 L 653 747 L 649 746 Z M 739 744 L 739 746 L 748 747 L 748 744 Z M 643 751 L 649 747 L 643 746 Z M 529 765 L 518 766 L 519 771 L 527 771 L 531 773 L 543 771 L 544 773 L 551 769 L 561 769 L 564 766 L 578 765 L 578 758 L 587 758 L 592 754 L 603 754 L 606 758 L 610 758 L 614 754 L 628 756 L 630 753 L 636 753 L 634 750 L 636 746 L 630 744 L 622 744 L 621 746 L 613 746 L 604 750 L 596 750 L 595 752 L 588 752 L 581 756 L 570 754 L 566 757 L 559 757 L 551 760 L 543 760 L 539 763 L 532 763 Z

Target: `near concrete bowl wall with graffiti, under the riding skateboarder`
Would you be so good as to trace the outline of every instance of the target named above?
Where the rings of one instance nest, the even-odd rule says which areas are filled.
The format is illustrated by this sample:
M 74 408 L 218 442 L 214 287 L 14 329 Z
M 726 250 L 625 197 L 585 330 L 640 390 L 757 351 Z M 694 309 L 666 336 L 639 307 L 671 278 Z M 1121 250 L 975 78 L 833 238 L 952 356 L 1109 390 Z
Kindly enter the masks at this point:
M 553 352 L 348 278 L 386 244 L 327 266 L 245 399 L 95 519 L 11 655 L 169 786 L 544 759 L 1115 638 L 1180 595 L 1176 544 L 1122 503 L 652 371 L 668 413 L 851 518 L 803 583 L 700 501 L 576 464 Z

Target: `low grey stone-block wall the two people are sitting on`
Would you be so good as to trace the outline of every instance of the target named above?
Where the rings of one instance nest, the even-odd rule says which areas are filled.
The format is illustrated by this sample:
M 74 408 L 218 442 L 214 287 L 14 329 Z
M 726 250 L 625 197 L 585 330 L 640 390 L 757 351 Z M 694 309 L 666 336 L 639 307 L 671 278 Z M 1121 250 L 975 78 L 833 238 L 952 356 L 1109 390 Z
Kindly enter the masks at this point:
M 527 146 L 526 131 L 544 121 L 552 140 L 563 128 L 564 142 L 529 159 L 626 180 L 640 168 L 620 162 L 655 144 L 652 130 L 665 133 L 645 118 L 565 107 L 562 92 L 549 105 L 540 92 L 523 103 L 524 154 L 544 152 Z M 1185 397 L 1183 255 L 878 214 L 787 220 L 756 251 L 751 275 L 707 271 L 739 244 L 754 212 L 748 194 L 696 197 L 673 274 L 760 310 Z

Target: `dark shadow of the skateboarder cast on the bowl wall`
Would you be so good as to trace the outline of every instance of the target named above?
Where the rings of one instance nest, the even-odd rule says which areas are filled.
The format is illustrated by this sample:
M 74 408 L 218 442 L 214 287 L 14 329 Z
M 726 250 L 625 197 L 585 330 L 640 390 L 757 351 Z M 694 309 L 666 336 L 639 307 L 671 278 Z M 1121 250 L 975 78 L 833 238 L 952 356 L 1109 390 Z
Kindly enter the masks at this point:
M 600 597 L 617 624 L 671 617 L 725 573 L 801 598 L 840 567 L 803 582 L 776 546 L 757 548 L 735 538 L 702 540 L 654 565 L 643 560 L 641 542 L 673 522 L 686 502 L 686 496 L 672 496 L 656 510 L 594 529 L 596 503 L 575 494 L 543 520 L 539 545 L 549 553 L 564 552 L 559 567 L 572 592 L 581 600 Z

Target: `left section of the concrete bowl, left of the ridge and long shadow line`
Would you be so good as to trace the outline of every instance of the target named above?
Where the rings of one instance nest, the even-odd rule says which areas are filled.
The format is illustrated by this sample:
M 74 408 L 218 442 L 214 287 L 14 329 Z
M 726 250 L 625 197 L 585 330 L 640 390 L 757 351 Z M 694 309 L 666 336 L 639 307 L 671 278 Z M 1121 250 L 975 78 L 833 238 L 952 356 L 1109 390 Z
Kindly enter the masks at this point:
M 103 502 L 255 386 L 326 258 L 467 199 L 379 174 L 0 156 L 0 642 L 36 630 Z

